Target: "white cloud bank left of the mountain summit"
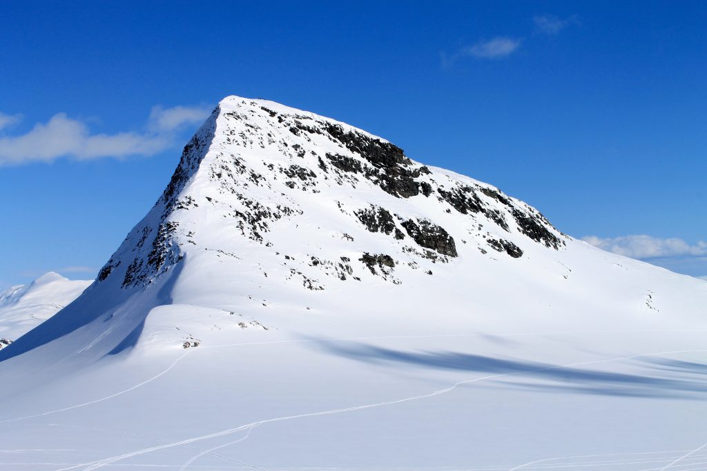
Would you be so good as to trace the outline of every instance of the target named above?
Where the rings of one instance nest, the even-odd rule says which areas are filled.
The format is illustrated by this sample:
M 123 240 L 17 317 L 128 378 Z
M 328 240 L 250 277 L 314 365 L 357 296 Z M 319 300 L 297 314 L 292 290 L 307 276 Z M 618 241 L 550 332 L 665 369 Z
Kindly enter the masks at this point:
M 144 130 L 114 134 L 91 133 L 83 121 L 54 114 L 25 134 L 0 136 L 0 165 L 52 162 L 59 157 L 89 160 L 154 155 L 174 145 L 183 126 L 201 123 L 210 111 L 209 107 L 154 107 Z M 0 114 L 0 123 L 6 116 Z

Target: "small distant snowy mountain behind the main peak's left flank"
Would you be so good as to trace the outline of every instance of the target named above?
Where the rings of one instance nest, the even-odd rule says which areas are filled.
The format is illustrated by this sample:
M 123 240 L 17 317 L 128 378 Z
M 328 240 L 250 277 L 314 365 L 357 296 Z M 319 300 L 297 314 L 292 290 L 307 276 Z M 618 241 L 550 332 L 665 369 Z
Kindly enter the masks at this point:
M 30 285 L 0 292 L 0 348 L 57 314 L 90 284 L 89 280 L 69 280 L 49 272 Z

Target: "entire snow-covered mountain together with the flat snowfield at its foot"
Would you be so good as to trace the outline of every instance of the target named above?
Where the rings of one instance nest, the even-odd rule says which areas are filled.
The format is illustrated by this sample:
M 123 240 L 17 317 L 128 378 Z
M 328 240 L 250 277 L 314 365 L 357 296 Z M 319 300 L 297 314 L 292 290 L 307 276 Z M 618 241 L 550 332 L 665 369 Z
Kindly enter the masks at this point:
M 706 305 L 489 184 L 226 97 L 93 285 L 0 351 L 0 466 L 699 469 Z

